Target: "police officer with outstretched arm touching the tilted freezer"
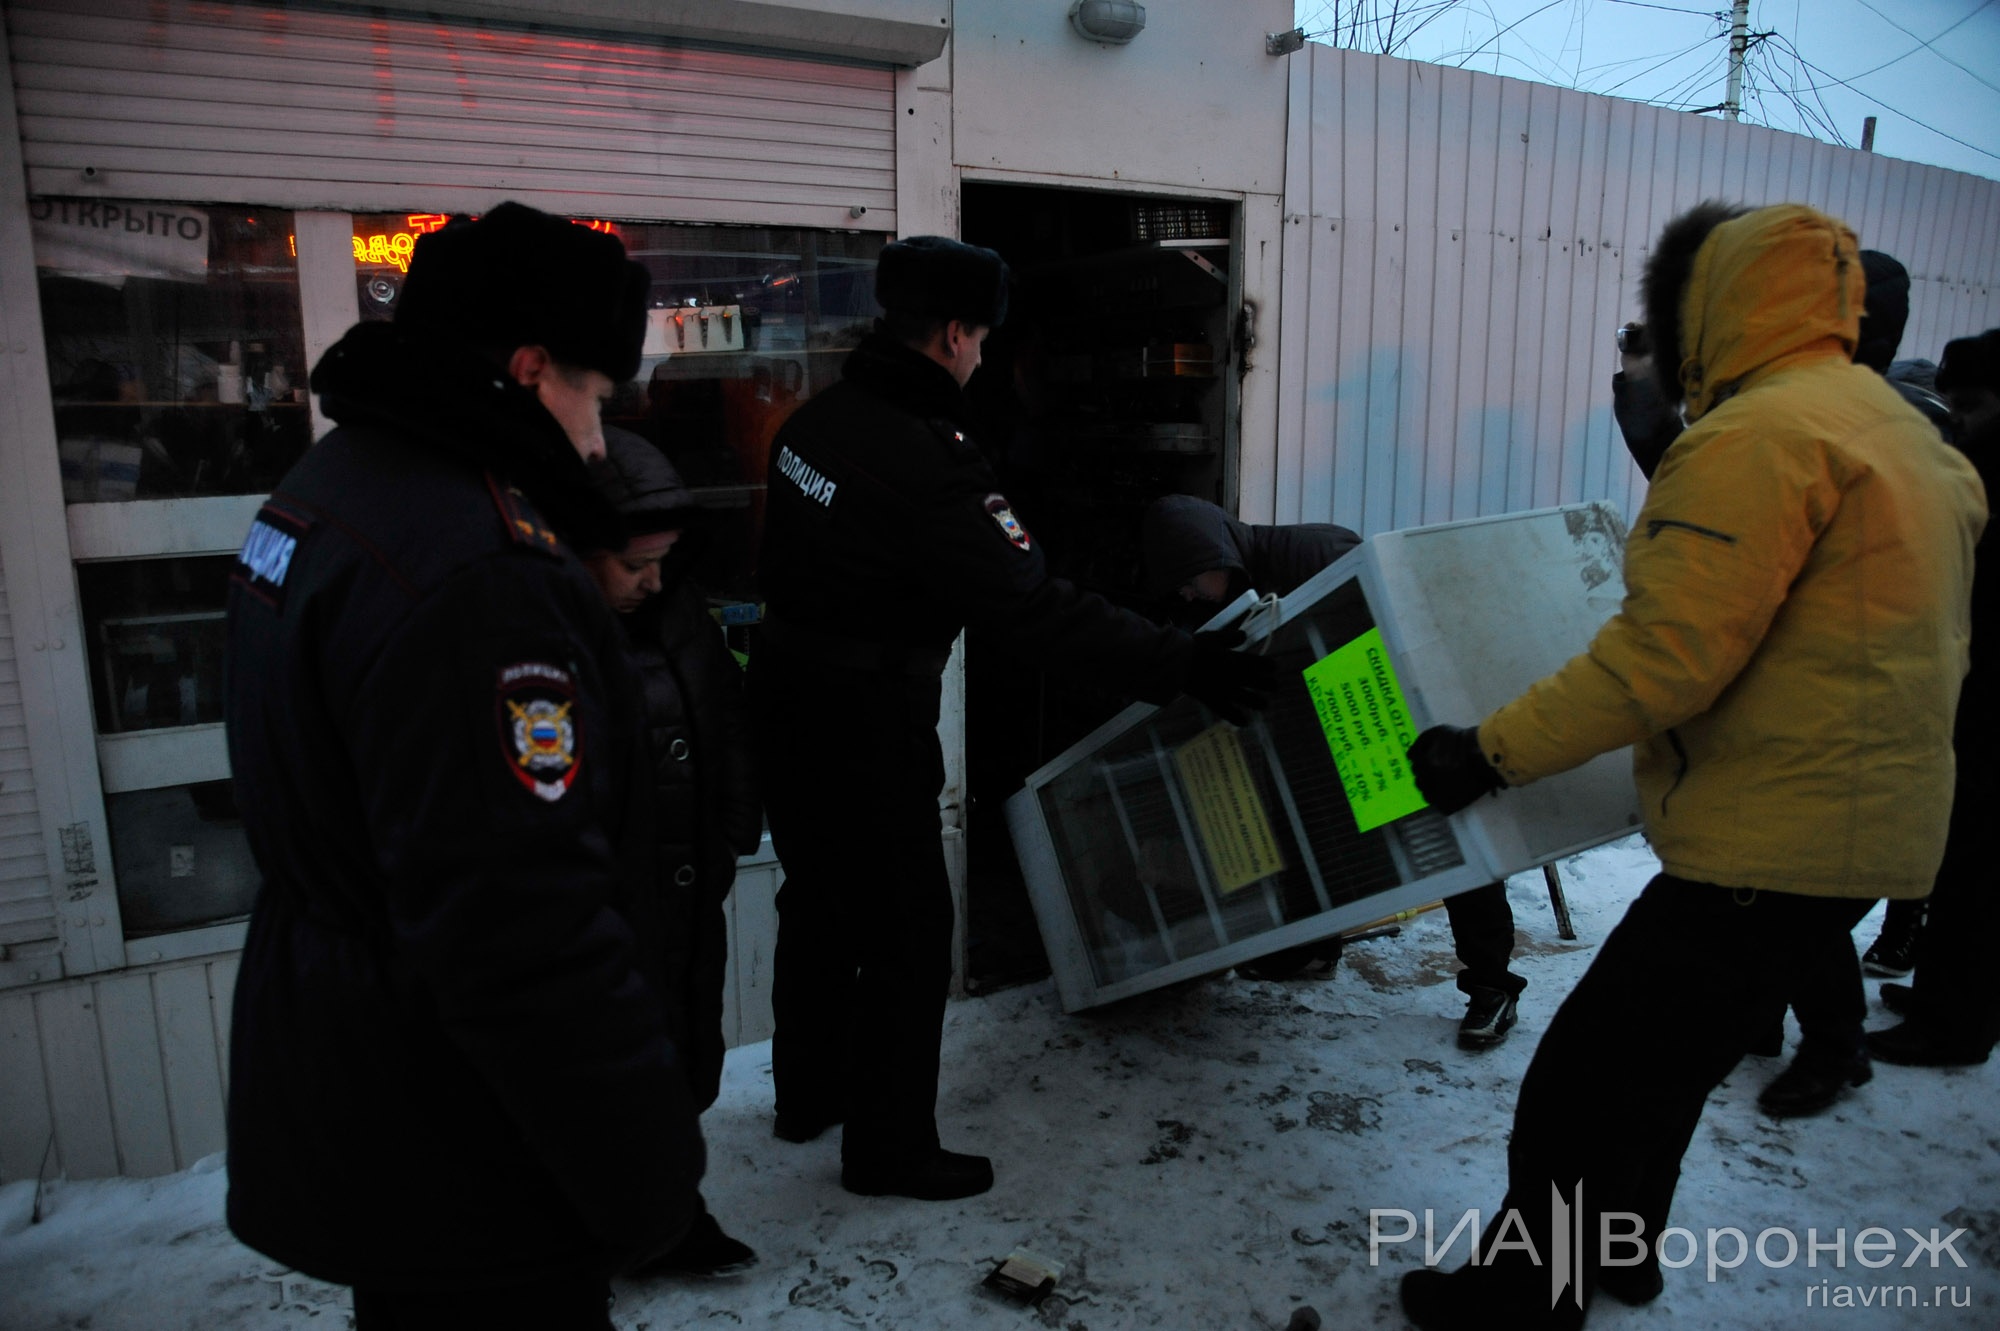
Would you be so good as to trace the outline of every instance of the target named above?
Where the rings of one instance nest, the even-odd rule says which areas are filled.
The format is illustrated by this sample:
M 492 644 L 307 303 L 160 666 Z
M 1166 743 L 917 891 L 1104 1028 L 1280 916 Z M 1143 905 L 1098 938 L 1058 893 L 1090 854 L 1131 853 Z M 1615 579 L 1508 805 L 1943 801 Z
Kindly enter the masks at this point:
M 938 827 L 940 675 L 960 630 L 1136 697 L 1258 705 L 1240 636 L 1156 628 L 1050 578 L 966 438 L 962 388 L 1006 316 L 1006 264 L 942 236 L 882 252 L 886 316 L 772 446 L 750 697 L 784 863 L 772 1003 L 776 1131 L 834 1123 L 842 1183 L 968 1197 L 980 1155 L 938 1143 L 952 895 Z

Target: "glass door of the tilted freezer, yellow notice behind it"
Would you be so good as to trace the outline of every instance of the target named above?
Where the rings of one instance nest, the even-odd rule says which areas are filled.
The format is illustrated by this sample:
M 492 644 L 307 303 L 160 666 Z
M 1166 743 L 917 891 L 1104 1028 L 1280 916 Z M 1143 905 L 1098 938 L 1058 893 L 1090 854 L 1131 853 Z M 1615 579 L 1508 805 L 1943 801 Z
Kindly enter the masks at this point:
M 1354 763 L 1344 773 L 1334 759 L 1340 699 L 1314 666 L 1374 628 L 1360 580 L 1344 582 L 1262 644 L 1280 687 L 1250 725 L 1180 697 L 1038 787 L 1100 989 L 1466 863 L 1450 823 L 1420 803 L 1374 825 Z M 1374 705 L 1346 701 L 1374 723 Z

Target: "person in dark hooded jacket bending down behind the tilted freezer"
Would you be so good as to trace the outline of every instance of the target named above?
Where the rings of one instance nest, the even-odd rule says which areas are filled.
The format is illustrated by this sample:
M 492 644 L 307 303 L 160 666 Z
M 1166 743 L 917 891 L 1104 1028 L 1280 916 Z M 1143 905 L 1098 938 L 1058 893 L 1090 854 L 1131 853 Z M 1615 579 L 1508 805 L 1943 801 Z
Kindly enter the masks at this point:
M 1362 544 L 1348 528 L 1330 522 L 1256 526 L 1238 522 L 1228 510 L 1184 494 L 1154 500 L 1140 528 L 1148 592 L 1166 602 L 1174 596 L 1206 620 L 1242 592 L 1290 596 L 1328 564 Z M 1444 901 L 1458 949 L 1458 989 L 1466 995 L 1466 1015 L 1458 1023 L 1458 1043 L 1490 1049 L 1514 1027 L 1516 1005 L 1528 981 L 1508 969 L 1514 953 L 1514 909 L 1506 883 L 1474 887 Z M 1340 959 L 1340 939 L 1286 947 L 1238 965 L 1252 979 L 1288 979 L 1312 963 Z

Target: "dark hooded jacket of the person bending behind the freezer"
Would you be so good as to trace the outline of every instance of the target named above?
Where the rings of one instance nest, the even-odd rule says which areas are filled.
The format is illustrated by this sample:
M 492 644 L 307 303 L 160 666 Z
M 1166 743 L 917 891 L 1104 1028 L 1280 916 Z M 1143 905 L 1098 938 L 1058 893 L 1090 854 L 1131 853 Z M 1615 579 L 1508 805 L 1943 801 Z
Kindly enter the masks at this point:
M 1140 544 L 1152 596 L 1170 598 L 1200 574 L 1228 570 L 1234 598 L 1244 588 L 1288 596 L 1362 538 L 1332 522 L 1254 526 L 1208 500 L 1170 494 L 1146 510 Z

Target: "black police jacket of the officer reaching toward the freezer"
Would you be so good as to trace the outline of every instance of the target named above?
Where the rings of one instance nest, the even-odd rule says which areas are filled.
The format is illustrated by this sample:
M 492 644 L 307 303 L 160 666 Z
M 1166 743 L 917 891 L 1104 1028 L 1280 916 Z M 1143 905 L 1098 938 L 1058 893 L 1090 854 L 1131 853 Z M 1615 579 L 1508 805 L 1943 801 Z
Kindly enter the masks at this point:
M 970 630 L 1028 664 L 1174 697 L 1192 640 L 1050 578 L 964 418 L 950 372 L 882 334 L 792 414 L 758 560 L 772 620 L 938 660 Z

